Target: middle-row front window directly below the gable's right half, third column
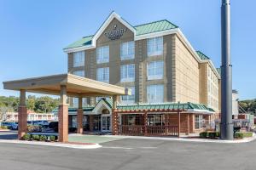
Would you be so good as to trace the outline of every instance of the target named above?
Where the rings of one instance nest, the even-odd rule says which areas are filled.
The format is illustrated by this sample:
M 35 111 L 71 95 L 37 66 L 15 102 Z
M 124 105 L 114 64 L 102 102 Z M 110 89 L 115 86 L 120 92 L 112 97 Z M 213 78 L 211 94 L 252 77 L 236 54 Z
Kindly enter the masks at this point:
M 135 77 L 134 64 L 121 65 L 121 82 L 134 82 Z

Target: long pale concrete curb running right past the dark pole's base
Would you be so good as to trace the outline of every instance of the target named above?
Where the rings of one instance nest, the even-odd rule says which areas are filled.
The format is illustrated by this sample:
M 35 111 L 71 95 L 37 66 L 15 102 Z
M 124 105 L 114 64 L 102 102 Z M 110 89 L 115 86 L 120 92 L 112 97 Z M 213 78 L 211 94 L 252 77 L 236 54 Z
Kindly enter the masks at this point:
M 240 140 L 221 140 L 221 139 L 183 139 L 183 138 L 166 138 L 166 137 L 138 137 L 138 136 L 112 136 L 105 135 L 106 137 L 122 138 L 122 139 L 152 139 L 152 140 L 168 140 L 168 141 L 180 141 L 180 142 L 201 142 L 201 143 L 218 143 L 218 144 L 242 144 L 252 142 L 256 139 L 256 135 L 251 138 Z

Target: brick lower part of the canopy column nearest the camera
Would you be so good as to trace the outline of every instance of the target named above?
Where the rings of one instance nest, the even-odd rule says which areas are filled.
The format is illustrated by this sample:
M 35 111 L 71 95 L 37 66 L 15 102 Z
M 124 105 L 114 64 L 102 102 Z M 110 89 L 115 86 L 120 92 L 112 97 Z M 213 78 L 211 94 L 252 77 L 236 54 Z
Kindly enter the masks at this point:
M 59 105 L 59 142 L 68 141 L 68 105 Z

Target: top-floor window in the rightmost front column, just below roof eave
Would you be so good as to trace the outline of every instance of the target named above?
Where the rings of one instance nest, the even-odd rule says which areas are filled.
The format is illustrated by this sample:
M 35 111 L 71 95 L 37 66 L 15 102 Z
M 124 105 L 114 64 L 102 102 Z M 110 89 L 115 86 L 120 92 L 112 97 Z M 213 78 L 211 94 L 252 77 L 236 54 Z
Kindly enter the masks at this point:
M 148 56 L 163 54 L 163 37 L 149 38 L 147 41 Z

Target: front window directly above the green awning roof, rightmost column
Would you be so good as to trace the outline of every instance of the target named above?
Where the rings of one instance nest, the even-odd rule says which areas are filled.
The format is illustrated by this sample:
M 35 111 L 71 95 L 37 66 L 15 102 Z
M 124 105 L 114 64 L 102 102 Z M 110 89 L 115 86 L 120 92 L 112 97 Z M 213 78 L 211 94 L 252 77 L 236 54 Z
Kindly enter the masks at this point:
M 148 86 L 148 103 L 162 103 L 164 102 L 164 86 L 163 85 L 149 85 Z

